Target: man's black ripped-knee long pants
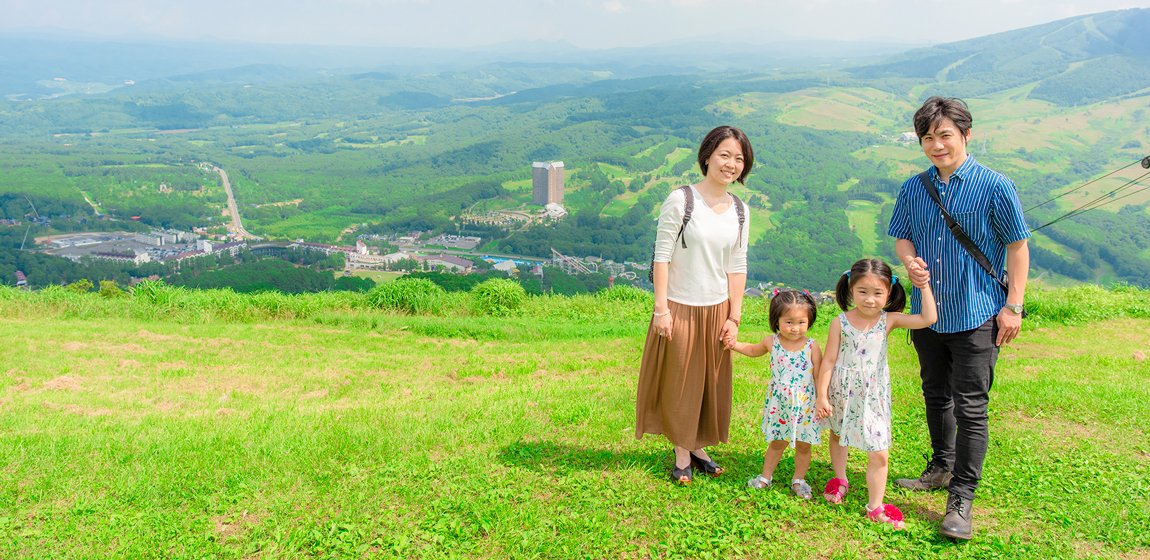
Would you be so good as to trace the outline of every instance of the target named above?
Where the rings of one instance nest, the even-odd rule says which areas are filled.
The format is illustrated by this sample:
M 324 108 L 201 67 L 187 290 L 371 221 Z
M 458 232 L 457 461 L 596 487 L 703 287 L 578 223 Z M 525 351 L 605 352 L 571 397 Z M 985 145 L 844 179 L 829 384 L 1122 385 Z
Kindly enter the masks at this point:
M 961 332 L 913 331 L 930 430 L 930 462 L 953 473 L 950 492 L 974 499 L 990 440 L 987 405 L 995 381 L 998 323 Z

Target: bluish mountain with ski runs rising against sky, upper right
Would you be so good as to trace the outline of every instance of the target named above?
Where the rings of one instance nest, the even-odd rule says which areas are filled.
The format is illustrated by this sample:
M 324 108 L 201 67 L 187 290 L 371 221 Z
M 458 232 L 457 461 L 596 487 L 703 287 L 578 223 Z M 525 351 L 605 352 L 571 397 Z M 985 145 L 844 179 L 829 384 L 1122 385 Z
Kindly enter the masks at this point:
M 1150 9 L 1072 17 L 915 49 L 851 74 L 936 79 L 960 97 L 1036 84 L 1034 99 L 1092 103 L 1150 87 Z

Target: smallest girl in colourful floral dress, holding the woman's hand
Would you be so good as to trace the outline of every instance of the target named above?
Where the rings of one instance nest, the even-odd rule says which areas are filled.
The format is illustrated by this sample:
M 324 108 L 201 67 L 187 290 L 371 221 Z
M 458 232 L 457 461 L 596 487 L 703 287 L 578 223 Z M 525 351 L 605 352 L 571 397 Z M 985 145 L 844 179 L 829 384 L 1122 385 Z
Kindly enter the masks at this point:
M 787 447 L 795 447 L 795 476 L 791 492 L 811 499 L 806 471 L 811 467 L 811 445 L 820 443 L 821 427 L 814 416 L 814 373 L 821 359 L 819 343 L 806 336 L 818 308 L 806 292 L 776 292 L 770 300 L 770 331 L 758 344 L 735 343 L 731 350 L 751 358 L 770 354 L 770 384 L 762 407 L 762 435 L 769 445 L 762 457 L 762 474 L 747 486 L 765 489 L 773 483 L 775 467 Z

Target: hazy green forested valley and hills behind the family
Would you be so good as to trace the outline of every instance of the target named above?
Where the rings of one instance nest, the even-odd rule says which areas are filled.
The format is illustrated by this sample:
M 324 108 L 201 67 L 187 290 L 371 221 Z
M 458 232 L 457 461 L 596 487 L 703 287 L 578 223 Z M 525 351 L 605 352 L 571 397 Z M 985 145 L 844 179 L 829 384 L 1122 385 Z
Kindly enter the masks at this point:
M 0 225 L 0 278 L 43 268 L 17 251 L 36 236 L 120 228 L 130 216 L 140 228 L 222 231 L 223 189 L 200 161 L 228 170 L 245 227 L 266 238 L 471 232 L 485 251 L 645 262 L 659 202 L 698 179 L 702 136 L 731 123 L 757 155 L 737 187 L 752 210 L 752 283 L 823 290 L 828 271 L 892 256 L 884 225 L 895 197 L 927 164 L 900 137 L 921 100 L 942 94 L 969 101 L 971 151 L 1014 179 L 1032 227 L 1101 201 L 1040 230 L 1035 277 L 1150 286 L 1150 192 L 1137 190 L 1141 168 L 1128 169 L 1150 151 L 1144 29 L 1150 9 L 1121 10 L 877 63 L 791 59 L 772 70 L 653 64 L 669 60 L 653 51 L 645 62 L 634 51 L 583 62 L 557 52 L 567 62 L 554 63 L 486 53 L 473 66 L 460 55 L 435 70 L 383 57 L 373 66 L 356 53 L 354 68 L 324 68 L 264 47 L 230 64 L 215 51 L 184 52 L 191 62 L 169 74 L 141 63 L 147 78 L 131 84 L 109 78 L 137 75 L 118 74 L 123 61 L 84 59 L 117 69 L 85 74 L 49 63 L 45 49 L 39 66 L 16 64 L 22 84 L 40 89 L 0 100 L 0 218 L 21 222 Z M 0 70 L 13 64 L 0 59 Z M 97 78 L 106 82 L 84 82 Z M 538 210 L 530 166 L 539 160 L 566 164 L 564 222 L 463 223 L 465 214 Z M 1079 189 L 1117 169 L 1126 170 Z M 32 205 L 51 223 L 31 221 Z

